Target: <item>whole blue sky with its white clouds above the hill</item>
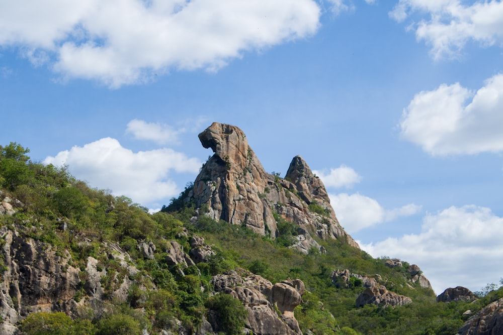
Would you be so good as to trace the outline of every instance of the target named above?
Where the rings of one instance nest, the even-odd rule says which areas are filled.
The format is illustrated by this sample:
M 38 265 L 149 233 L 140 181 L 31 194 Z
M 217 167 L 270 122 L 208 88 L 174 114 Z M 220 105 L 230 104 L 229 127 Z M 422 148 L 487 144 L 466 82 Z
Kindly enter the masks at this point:
M 503 277 L 503 4 L 0 1 L 0 143 L 160 208 L 240 127 L 301 155 L 372 256 L 437 293 Z

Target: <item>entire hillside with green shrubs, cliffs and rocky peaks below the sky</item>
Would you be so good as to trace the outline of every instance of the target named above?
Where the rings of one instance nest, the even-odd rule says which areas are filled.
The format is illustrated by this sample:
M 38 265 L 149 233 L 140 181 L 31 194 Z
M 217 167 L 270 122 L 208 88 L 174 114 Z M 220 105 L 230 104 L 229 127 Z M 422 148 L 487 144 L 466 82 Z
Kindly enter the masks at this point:
M 215 154 L 155 214 L 1 147 L 0 333 L 455 334 L 501 322 L 503 291 L 437 302 L 419 267 L 360 250 L 300 156 L 281 178 L 236 127 L 200 139 Z

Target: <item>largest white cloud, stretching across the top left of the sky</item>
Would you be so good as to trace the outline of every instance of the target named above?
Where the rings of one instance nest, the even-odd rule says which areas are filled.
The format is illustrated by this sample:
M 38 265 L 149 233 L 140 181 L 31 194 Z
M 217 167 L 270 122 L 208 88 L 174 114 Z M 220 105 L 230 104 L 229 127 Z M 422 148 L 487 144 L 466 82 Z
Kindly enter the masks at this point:
M 314 34 L 313 0 L 0 0 L 0 46 L 61 78 L 111 87 L 170 69 L 217 70 L 243 52 Z

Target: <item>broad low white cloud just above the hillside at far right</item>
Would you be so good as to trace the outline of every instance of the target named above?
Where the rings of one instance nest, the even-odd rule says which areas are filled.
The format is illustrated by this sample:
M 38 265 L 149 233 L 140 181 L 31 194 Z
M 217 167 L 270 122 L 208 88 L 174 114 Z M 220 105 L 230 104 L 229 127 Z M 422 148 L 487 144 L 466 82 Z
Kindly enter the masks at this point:
M 503 217 L 475 205 L 427 214 L 420 234 L 360 245 L 374 257 L 417 264 L 437 294 L 458 285 L 475 291 L 498 282 L 503 266 Z

